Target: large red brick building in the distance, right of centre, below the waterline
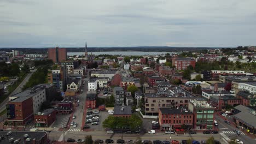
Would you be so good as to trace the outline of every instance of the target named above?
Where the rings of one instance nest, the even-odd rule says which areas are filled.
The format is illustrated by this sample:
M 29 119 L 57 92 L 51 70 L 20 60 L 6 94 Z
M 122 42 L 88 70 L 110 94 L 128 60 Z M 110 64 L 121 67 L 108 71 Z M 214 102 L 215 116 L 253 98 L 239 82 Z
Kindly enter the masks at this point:
M 172 65 L 175 65 L 177 70 L 184 70 L 187 69 L 189 65 L 192 65 L 193 68 L 195 68 L 195 59 L 191 58 L 178 58 L 173 57 L 172 58 Z

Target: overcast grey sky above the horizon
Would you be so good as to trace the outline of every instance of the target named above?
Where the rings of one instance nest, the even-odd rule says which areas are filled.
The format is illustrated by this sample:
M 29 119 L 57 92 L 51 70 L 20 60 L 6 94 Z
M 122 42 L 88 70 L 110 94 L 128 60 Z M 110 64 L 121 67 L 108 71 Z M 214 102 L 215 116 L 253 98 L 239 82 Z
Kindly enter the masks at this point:
M 255 0 L 0 0 L 0 47 L 256 45 Z

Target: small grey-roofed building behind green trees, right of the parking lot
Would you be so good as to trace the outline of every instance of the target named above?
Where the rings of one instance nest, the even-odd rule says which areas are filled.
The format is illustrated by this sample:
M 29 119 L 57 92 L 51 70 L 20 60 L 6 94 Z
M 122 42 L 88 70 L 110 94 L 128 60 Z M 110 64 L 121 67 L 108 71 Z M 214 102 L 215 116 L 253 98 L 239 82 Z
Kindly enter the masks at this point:
M 114 117 L 131 117 L 131 106 L 120 106 L 120 105 L 115 105 L 114 107 Z

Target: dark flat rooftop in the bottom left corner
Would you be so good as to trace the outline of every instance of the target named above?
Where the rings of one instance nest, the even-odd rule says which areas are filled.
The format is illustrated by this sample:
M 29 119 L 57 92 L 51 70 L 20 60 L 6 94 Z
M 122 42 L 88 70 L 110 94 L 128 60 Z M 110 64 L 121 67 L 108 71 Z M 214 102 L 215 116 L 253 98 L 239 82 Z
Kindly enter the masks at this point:
M 0 135 L 5 136 L 8 132 L 9 131 L 0 131 Z M 21 139 L 20 143 L 23 143 L 22 141 L 24 141 L 24 134 L 28 134 L 28 137 L 31 138 L 31 141 L 26 142 L 27 144 L 33 143 L 33 141 L 32 141 L 33 139 L 36 139 L 38 141 L 38 140 L 41 140 L 45 135 L 47 135 L 46 132 L 41 132 L 41 131 L 36 131 L 36 132 L 33 132 L 33 131 L 11 131 L 11 133 L 12 134 L 10 137 L 13 137 L 14 140 Z M 1 143 L 9 144 L 10 137 L 5 136 L 5 140 L 2 140 Z

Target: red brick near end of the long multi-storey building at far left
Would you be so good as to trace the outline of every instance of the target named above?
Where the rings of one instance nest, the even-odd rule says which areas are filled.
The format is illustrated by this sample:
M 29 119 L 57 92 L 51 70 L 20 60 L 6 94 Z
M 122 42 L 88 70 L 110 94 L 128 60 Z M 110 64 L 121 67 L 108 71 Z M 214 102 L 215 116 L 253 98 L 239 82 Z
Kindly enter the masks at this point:
M 17 127 L 24 125 L 33 119 L 32 97 L 18 97 L 10 100 L 6 106 L 9 125 Z

